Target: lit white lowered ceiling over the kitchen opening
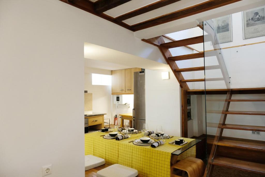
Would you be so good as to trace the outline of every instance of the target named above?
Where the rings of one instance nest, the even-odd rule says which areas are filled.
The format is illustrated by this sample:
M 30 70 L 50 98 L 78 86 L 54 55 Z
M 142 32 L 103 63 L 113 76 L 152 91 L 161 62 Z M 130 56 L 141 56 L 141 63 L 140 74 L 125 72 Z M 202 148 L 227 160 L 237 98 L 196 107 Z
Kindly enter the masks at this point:
M 117 70 L 126 68 L 144 68 L 151 70 L 167 69 L 167 64 L 148 60 L 110 48 L 84 43 L 85 67 Z

